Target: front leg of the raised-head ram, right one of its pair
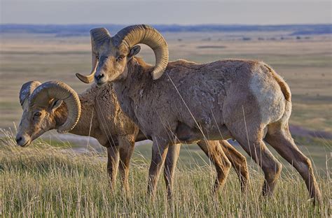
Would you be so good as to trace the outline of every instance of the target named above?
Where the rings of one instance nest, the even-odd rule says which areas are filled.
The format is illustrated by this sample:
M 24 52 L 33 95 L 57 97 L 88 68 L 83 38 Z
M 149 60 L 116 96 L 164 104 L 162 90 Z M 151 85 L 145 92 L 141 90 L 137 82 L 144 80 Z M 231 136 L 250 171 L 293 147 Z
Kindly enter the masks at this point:
M 167 197 L 172 199 L 172 191 L 174 185 L 174 171 L 177 166 L 177 159 L 179 158 L 181 144 L 170 145 L 168 147 L 167 156 L 164 166 L 164 179 L 167 187 Z

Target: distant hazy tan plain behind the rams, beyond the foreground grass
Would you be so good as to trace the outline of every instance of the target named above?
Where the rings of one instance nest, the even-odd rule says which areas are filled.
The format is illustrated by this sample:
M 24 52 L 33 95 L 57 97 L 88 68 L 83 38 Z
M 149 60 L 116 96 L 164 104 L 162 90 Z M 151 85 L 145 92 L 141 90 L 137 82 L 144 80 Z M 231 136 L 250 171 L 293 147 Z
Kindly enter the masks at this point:
M 188 59 L 204 63 L 224 58 L 243 58 L 265 61 L 291 87 L 291 124 L 332 132 L 331 36 L 283 41 L 227 40 L 241 34 L 244 33 L 236 36 L 218 33 L 164 35 L 170 47 L 170 60 Z M 259 32 L 249 36 L 254 38 L 262 34 Z M 279 35 L 282 36 L 282 33 Z M 77 92 L 88 87 L 76 78 L 75 73 L 90 72 L 89 36 L 2 34 L 0 45 L 0 128 L 13 126 L 13 122 L 18 124 L 21 115 L 18 92 L 24 82 L 62 80 Z M 139 55 L 153 64 L 153 52 L 146 46 L 142 48 Z

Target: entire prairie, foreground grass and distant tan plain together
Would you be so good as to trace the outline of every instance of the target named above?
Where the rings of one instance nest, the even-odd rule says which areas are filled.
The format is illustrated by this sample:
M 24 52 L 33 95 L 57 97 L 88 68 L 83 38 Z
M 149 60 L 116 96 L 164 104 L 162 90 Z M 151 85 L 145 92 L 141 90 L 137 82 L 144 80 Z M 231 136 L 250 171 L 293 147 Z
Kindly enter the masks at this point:
M 222 34 L 165 36 L 171 60 L 265 61 L 291 87 L 291 124 L 331 133 L 331 37 L 223 41 L 219 40 L 226 37 Z M 0 128 L 13 126 L 13 122 L 18 126 L 22 115 L 18 92 L 24 82 L 62 80 L 77 92 L 88 87 L 74 75 L 90 71 L 88 36 L 3 34 L 0 45 Z M 142 48 L 140 56 L 153 63 L 151 50 Z M 211 192 L 214 167 L 198 146 L 184 145 L 176 173 L 174 201 L 167 202 L 165 185 L 160 181 L 156 201 L 151 202 L 146 196 L 150 145 L 135 148 L 130 172 L 132 193 L 125 198 L 119 184 L 113 192 L 109 190 L 106 154 L 100 147 L 97 147 L 99 152 L 80 153 L 79 146 L 56 141 L 52 135 L 48 143 L 36 140 L 30 147 L 22 148 L 15 147 L 13 133 L 4 131 L 0 136 L 0 194 L 4 217 L 331 217 L 331 138 L 296 136 L 300 150 L 314 163 L 324 197 L 324 204 L 313 208 L 311 201 L 307 201 L 303 180 L 288 163 L 273 198 L 261 198 L 263 174 L 250 159 L 251 187 L 247 194 L 240 193 L 240 184 L 232 172 L 226 187 L 214 197 Z

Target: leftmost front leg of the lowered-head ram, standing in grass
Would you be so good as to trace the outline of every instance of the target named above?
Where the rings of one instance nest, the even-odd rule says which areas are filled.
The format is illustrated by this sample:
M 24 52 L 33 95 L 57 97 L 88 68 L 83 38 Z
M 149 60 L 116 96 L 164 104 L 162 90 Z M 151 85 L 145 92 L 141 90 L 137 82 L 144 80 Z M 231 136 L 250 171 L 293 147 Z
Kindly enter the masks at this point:
M 116 175 L 118 173 L 119 150 L 116 146 L 107 147 L 107 173 L 111 189 L 116 186 Z

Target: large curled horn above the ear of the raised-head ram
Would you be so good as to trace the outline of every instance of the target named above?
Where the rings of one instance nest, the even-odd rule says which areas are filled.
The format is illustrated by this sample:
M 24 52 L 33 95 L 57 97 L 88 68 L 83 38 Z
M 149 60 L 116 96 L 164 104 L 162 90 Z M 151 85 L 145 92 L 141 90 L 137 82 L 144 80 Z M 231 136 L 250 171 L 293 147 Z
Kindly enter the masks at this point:
M 112 41 L 117 47 L 125 45 L 132 48 L 139 43 L 148 45 L 155 53 L 155 68 L 151 73 L 153 80 L 157 80 L 165 72 L 169 58 L 168 46 L 165 38 L 153 27 L 144 24 L 125 27 L 113 36 Z

